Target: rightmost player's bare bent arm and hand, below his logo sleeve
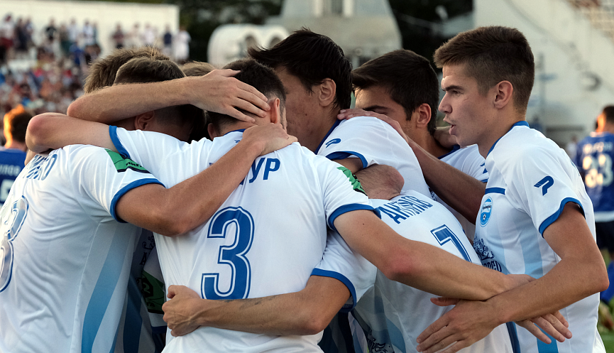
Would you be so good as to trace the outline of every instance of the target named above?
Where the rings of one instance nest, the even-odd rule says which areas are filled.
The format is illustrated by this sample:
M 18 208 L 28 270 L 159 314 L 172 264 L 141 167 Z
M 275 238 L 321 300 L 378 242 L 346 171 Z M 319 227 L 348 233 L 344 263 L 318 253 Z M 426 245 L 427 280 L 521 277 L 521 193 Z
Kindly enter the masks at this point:
M 459 303 L 422 332 L 419 352 L 437 352 L 452 342 L 456 344 L 444 352 L 456 352 L 503 322 L 553 313 L 608 288 L 605 264 L 575 203 L 565 205 L 559 219 L 544 230 L 544 239 L 561 257 L 552 270 L 484 302 Z

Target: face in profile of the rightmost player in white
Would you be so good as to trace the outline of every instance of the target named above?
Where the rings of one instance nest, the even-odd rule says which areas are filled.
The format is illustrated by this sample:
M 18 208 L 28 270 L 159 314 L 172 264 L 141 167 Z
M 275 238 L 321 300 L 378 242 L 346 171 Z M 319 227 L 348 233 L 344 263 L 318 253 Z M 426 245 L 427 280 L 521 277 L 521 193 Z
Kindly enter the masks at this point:
M 444 66 L 442 89 L 446 92 L 439 103 L 439 112 L 445 113 L 444 121 L 450 124 L 450 134 L 456 136 L 461 146 L 490 141 L 495 124 L 493 104 L 488 95 L 478 89 L 478 82 L 465 74 L 465 65 Z

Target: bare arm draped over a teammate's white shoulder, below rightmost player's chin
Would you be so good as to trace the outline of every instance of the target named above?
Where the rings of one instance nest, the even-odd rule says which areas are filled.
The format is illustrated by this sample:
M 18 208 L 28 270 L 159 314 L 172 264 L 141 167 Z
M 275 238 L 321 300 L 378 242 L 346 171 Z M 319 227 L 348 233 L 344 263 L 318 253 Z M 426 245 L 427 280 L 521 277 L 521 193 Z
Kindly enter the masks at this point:
M 338 118 L 350 119 L 353 116 L 375 116 L 393 126 L 414 151 L 418 163 L 420 163 L 420 168 L 422 168 L 424 180 L 426 180 L 431 190 L 470 222 L 476 222 L 482 197 L 486 190 L 486 184 L 461 172 L 448 163 L 439 161 L 439 158 L 433 156 L 409 139 L 401 129 L 398 121 L 390 119 L 383 114 L 366 112 L 362 109 L 346 109 L 339 114 Z M 339 163 L 339 161 L 336 162 Z

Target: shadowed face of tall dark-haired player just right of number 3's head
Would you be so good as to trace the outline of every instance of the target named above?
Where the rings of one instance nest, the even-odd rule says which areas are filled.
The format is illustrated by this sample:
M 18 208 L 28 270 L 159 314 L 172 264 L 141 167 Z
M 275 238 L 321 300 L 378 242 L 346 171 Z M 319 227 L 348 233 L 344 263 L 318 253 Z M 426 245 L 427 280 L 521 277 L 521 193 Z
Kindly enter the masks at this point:
M 302 136 L 312 134 L 312 121 L 317 119 L 315 107 L 318 107 L 315 94 L 309 94 L 299 78 L 290 74 L 285 67 L 276 67 L 275 73 L 285 89 L 285 114 L 287 133 L 302 141 Z

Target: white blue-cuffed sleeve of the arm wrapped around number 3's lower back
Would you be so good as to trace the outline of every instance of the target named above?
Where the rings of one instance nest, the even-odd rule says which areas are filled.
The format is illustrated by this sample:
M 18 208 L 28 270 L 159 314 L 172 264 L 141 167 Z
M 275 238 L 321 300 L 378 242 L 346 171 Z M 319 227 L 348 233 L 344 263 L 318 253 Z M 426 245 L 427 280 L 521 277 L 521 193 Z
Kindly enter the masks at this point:
M 312 276 L 332 277 L 344 283 L 351 298 L 341 308 L 344 313 L 352 310 L 363 294 L 375 283 L 377 268 L 360 254 L 350 249 L 337 232 L 329 231 L 324 257 Z

